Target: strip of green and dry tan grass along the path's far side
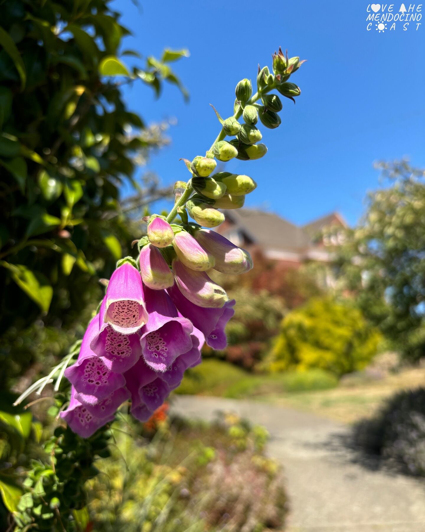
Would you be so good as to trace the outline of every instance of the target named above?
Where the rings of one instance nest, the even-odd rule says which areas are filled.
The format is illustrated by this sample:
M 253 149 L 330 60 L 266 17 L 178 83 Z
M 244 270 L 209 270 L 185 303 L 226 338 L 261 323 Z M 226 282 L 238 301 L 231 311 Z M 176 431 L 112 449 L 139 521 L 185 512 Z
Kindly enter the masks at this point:
M 301 377 L 300 377 L 301 375 Z M 216 359 L 206 359 L 185 376 L 180 394 L 254 398 L 345 423 L 375 413 L 390 395 L 425 384 L 425 369 L 403 369 L 372 382 L 337 386 L 325 372 L 254 375 Z

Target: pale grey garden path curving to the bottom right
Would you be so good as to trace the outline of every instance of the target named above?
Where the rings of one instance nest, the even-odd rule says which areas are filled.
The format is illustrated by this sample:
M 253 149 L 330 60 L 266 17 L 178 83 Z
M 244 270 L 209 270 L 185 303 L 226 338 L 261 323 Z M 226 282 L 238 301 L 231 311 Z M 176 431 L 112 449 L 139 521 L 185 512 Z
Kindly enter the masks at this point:
M 253 401 L 175 396 L 180 415 L 214 419 L 233 411 L 270 432 L 284 465 L 290 517 L 285 532 L 425 532 L 425 483 L 358 463 L 349 428 L 316 415 Z

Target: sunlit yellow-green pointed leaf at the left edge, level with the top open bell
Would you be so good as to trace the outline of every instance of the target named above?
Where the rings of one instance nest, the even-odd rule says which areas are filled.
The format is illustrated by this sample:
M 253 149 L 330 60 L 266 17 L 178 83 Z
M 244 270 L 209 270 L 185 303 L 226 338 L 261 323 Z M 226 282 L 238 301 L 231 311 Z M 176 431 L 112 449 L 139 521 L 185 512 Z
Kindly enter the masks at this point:
M 53 288 L 47 278 L 39 272 L 33 272 L 23 264 L 11 264 L 0 261 L 0 266 L 12 273 L 12 279 L 44 312 L 49 310 Z

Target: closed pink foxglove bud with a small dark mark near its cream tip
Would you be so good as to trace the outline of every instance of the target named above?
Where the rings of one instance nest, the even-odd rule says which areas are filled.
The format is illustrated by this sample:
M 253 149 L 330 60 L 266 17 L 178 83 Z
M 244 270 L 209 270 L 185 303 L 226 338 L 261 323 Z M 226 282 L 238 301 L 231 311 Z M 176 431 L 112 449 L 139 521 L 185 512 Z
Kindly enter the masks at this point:
M 173 272 L 180 292 L 195 305 L 217 309 L 228 301 L 225 290 L 204 271 L 190 270 L 179 259 L 173 259 Z

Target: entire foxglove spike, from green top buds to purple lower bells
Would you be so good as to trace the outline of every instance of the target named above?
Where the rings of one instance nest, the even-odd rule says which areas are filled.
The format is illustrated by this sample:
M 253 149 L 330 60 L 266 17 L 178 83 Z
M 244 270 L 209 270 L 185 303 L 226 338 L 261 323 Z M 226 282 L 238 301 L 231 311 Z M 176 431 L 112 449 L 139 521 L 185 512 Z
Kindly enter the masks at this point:
M 270 91 L 298 96 L 299 87 L 288 79 L 301 64 L 279 48 L 272 72 L 258 69 L 255 94 L 249 79 L 237 84 L 233 116 L 223 120 L 216 112 L 222 131 L 213 146 L 205 156 L 184 159 L 191 178 L 176 182 L 171 213 L 144 218 L 147 234 L 139 240 L 138 260 L 118 261 L 78 361 L 65 372 L 72 392 L 61 416 L 83 437 L 111 421 L 129 399 L 131 413 L 146 421 L 179 386 L 184 371 L 201 362 L 204 343 L 226 347 L 224 329 L 235 302 L 208 272 L 244 273 L 252 260 L 211 228 L 224 221 L 222 210 L 240 209 L 257 184 L 244 174 L 215 172 L 217 161 L 256 160 L 267 153 L 257 124 L 279 126 L 282 101 Z

